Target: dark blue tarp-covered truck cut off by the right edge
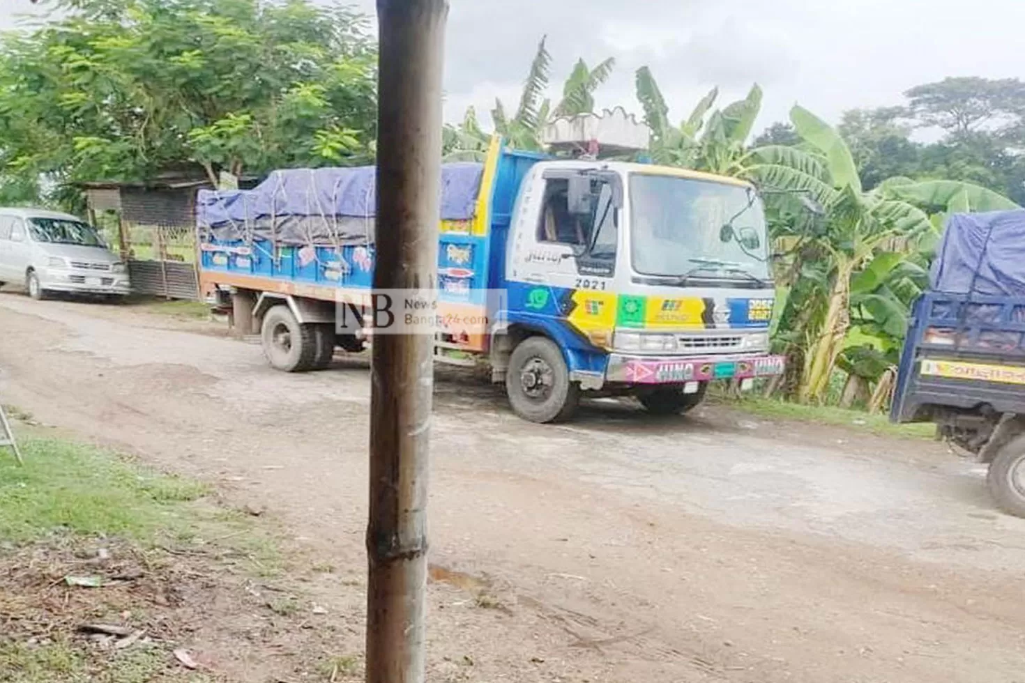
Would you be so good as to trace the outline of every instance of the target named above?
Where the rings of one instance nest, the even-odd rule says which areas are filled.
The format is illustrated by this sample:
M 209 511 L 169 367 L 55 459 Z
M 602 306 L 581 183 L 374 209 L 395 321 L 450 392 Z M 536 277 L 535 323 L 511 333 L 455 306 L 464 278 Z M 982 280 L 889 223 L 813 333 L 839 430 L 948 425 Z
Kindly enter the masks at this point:
M 935 422 L 1025 517 L 1025 211 L 950 217 L 901 354 L 894 422 Z

